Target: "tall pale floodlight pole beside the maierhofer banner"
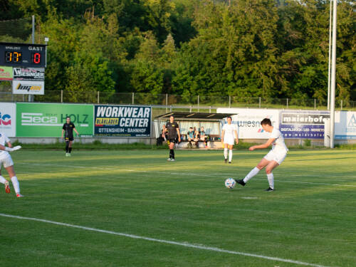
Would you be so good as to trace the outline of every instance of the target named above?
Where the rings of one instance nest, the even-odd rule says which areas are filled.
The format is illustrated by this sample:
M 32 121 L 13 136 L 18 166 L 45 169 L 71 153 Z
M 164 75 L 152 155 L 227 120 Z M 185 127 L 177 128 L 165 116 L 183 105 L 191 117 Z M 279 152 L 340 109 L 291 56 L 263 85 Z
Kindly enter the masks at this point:
M 336 76 L 336 19 L 337 19 L 337 0 L 333 6 L 333 54 L 331 58 L 331 95 L 330 95 L 330 148 L 334 148 L 335 138 L 335 76 Z

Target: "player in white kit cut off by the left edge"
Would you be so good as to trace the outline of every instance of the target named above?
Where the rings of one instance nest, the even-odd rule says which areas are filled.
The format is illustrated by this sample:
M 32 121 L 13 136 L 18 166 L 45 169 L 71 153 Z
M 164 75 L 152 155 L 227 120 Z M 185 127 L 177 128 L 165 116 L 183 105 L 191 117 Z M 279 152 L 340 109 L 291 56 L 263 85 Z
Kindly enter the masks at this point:
M 7 143 L 9 147 L 5 147 L 5 143 Z M 9 182 L 1 176 L 1 165 L 4 165 L 4 168 L 9 173 L 12 185 L 14 186 L 16 197 L 23 197 L 23 195 L 20 194 L 20 184 L 16 177 L 14 162 L 12 161 L 9 152 L 19 150 L 20 148 L 21 146 L 19 145 L 13 148 L 9 137 L 7 137 L 4 132 L 0 132 L 0 182 L 5 184 L 5 192 L 10 193 Z

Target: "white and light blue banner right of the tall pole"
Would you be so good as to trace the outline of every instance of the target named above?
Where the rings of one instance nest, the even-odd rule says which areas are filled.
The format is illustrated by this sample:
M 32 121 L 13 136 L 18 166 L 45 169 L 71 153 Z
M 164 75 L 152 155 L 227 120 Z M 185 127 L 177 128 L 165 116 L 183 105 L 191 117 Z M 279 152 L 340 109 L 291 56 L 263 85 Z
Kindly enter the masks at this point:
M 335 112 L 335 140 L 356 140 L 356 112 Z

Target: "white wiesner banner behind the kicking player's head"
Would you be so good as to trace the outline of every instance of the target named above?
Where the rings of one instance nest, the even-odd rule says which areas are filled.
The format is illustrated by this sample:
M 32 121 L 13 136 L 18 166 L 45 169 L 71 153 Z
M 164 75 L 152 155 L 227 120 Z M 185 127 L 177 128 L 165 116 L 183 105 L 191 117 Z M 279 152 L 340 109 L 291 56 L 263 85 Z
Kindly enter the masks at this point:
M 270 119 L 273 126 L 279 126 L 279 110 L 218 108 L 216 113 L 236 113 L 232 116 L 232 123 L 236 125 L 240 139 L 268 139 L 268 132 L 261 127 L 264 118 Z

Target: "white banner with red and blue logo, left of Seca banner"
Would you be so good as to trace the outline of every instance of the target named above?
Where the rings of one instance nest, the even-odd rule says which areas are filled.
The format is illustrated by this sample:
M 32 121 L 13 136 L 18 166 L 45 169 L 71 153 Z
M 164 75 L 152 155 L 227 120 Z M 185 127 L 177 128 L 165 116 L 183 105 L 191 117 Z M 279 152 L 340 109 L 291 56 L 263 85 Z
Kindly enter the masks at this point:
M 0 103 L 0 132 L 8 137 L 16 136 L 16 104 Z

